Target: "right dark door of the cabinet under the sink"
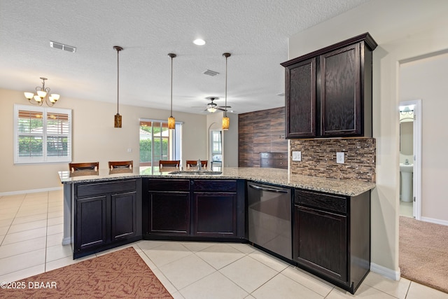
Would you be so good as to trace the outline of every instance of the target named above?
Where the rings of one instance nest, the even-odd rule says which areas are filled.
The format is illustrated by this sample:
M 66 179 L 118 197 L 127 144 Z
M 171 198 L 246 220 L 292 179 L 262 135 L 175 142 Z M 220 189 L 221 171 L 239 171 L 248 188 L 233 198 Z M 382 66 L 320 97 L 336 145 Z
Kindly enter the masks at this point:
M 237 235 L 236 193 L 195 193 L 195 235 L 235 237 Z

